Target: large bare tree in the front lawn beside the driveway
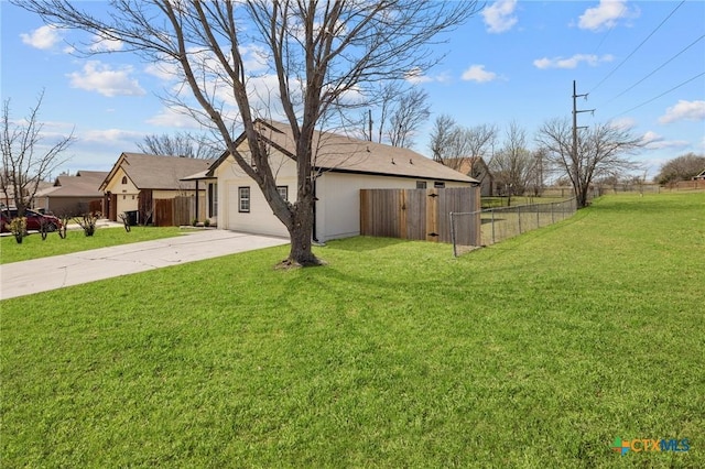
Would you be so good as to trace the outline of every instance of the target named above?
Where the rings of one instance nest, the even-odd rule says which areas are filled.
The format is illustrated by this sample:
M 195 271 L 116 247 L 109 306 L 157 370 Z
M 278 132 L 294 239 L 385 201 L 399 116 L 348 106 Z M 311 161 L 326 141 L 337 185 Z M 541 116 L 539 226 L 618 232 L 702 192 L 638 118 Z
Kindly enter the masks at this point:
M 479 9 L 475 0 L 115 0 L 96 17 L 68 0 L 15 2 L 48 23 L 121 41 L 148 61 L 175 65 L 198 102 L 188 111 L 217 129 L 226 150 L 258 184 L 290 233 L 288 263 L 302 265 L 319 263 L 311 246 L 316 128 L 352 107 L 368 108 L 370 87 L 427 70 L 438 58 L 426 46 Z M 250 68 L 247 46 L 259 50 L 264 70 Z M 275 84 L 271 92 L 256 88 L 263 75 Z M 264 94 L 269 100 L 258 111 Z M 183 95 L 173 98 L 186 103 Z M 237 105 L 236 112 L 228 102 Z M 284 117 L 295 140 L 294 203 L 276 190 L 269 149 L 254 124 L 273 112 Z M 232 135 L 240 126 L 247 154 Z

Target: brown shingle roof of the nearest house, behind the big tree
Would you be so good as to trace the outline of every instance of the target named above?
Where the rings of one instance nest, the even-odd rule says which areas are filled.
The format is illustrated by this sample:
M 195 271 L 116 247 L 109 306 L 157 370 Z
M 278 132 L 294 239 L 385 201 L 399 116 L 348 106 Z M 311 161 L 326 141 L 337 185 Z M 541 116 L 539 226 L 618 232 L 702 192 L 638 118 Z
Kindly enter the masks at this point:
M 256 127 L 263 140 L 294 157 L 295 143 L 288 124 L 258 120 Z M 245 134 L 240 135 L 238 143 L 243 140 Z M 478 183 L 477 179 L 400 146 L 352 139 L 332 132 L 315 132 L 313 148 L 313 165 L 321 171 Z M 214 163 L 210 174 L 227 156 L 224 154 Z

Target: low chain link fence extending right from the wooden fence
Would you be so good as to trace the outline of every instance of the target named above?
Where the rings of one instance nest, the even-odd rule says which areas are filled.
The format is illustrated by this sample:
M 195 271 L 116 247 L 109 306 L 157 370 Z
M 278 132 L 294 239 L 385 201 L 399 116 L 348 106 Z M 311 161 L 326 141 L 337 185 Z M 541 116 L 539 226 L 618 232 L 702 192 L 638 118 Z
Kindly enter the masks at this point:
M 482 246 L 495 244 L 549 225 L 556 223 L 572 217 L 577 210 L 574 198 L 561 201 L 518 205 L 514 207 L 488 208 L 470 212 L 451 212 L 451 238 L 453 254 L 457 258 Z M 478 246 L 464 246 L 456 240 L 463 239 L 462 231 L 476 219 L 480 218 L 480 242 Z

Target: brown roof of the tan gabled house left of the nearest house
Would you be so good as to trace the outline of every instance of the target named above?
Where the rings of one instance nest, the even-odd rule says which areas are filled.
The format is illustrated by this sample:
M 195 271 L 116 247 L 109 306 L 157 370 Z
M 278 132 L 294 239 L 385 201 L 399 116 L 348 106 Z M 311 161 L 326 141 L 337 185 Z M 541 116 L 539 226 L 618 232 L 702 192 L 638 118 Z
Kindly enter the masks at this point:
M 183 156 L 122 153 L 100 185 L 100 188 L 104 189 L 108 182 L 115 177 L 118 168 L 122 168 L 139 189 L 191 189 L 195 188 L 195 183 L 181 182 L 180 179 L 208 170 L 214 161 Z

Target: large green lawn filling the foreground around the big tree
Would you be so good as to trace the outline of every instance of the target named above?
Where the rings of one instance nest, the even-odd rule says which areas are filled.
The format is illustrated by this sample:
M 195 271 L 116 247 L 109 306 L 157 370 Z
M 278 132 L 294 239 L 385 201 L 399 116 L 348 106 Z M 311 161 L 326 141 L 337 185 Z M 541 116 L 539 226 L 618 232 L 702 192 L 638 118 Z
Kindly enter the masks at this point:
M 705 194 L 316 252 L 0 303 L 2 467 L 705 467 Z

